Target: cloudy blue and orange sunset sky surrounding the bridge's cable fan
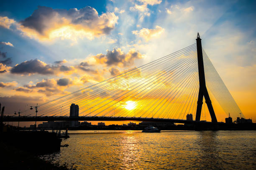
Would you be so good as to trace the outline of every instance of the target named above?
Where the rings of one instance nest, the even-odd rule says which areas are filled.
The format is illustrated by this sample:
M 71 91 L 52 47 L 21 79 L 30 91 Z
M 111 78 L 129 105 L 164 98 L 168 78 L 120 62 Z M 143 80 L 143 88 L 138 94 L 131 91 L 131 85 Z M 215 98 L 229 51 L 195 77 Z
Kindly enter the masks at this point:
M 199 32 L 243 115 L 256 122 L 255 6 L 246 0 L 2 0 L 0 102 L 13 115 L 192 45 Z

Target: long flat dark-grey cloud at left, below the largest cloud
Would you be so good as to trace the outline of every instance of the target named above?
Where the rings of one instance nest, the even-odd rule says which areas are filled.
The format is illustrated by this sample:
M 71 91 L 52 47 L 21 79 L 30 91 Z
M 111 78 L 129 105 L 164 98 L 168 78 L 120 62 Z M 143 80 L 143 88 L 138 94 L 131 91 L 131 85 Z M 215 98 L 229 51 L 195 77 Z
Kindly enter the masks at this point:
M 61 72 L 68 73 L 69 71 L 74 70 L 74 67 L 67 67 L 64 65 L 61 66 L 53 66 L 46 64 L 40 60 L 29 60 L 21 62 L 20 64 L 15 65 L 10 72 L 13 74 L 41 74 L 41 75 L 49 75 L 49 74 L 59 74 Z

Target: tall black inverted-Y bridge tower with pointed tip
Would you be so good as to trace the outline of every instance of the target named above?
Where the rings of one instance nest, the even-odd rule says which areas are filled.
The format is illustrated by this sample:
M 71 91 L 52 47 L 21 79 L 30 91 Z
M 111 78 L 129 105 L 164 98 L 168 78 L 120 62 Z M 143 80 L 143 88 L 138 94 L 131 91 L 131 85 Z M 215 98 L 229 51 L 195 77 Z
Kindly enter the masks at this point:
M 207 104 L 208 110 L 210 112 L 212 122 L 217 123 L 217 118 L 215 116 L 215 112 L 212 107 L 212 102 L 210 100 L 210 96 L 208 94 L 206 84 L 205 84 L 205 70 L 204 70 L 204 61 L 202 57 L 202 43 L 200 39 L 199 33 L 197 33 L 197 62 L 198 62 L 198 75 L 199 75 L 199 94 L 197 100 L 197 113 L 196 113 L 196 121 L 200 121 L 202 104 L 203 104 L 203 96 L 205 96 L 205 102 Z

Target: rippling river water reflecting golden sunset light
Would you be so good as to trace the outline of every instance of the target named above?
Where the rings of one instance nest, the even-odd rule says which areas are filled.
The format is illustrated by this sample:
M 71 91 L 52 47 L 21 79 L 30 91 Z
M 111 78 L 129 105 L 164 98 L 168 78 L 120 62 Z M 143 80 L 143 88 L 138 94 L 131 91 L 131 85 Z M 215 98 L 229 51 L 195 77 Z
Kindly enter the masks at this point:
M 44 160 L 69 168 L 110 170 L 254 169 L 256 131 L 69 131 Z

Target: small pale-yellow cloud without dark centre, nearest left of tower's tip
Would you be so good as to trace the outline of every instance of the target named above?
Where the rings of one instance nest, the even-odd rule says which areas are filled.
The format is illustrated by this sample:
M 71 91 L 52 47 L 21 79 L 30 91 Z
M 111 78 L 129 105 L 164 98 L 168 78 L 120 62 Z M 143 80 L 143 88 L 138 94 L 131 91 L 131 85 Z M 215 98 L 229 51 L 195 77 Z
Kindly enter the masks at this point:
M 164 28 L 161 28 L 158 25 L 156 25 L 156 29 L 142 28 L 140 31 L 138 30 L 132 31 L 134 35 L 143 37 L 146 41 L 149 41 L 151 38 L 154 38 L 154 37 L 159 37 L 162 32 L 164 32 Z

